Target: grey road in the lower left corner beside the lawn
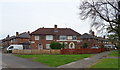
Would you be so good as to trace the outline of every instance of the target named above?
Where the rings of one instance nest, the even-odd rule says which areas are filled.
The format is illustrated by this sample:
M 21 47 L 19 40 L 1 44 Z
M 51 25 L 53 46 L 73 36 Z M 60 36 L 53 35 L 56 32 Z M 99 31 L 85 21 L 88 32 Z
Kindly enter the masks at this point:
M 50 68 L 42 63 L 16 57 L 12 54 L 0 52 L 0 68 Z

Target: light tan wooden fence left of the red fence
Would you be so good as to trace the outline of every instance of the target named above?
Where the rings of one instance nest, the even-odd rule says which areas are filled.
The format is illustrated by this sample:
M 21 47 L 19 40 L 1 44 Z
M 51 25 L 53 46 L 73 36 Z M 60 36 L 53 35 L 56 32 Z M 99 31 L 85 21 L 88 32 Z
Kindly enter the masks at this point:
M 13 54 L 61 54 L 61 51 L 31 49 L 31 50 L 13 50 L 12 53 Z

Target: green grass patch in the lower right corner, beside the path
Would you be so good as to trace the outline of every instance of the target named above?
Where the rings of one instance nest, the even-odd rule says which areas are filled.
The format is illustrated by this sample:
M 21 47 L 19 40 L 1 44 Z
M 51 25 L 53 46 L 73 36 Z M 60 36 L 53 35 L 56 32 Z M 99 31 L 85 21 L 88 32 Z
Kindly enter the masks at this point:
M 95 65 L 92 65 L 91 68 L 118 68 L 118 59 L 101 59 Z

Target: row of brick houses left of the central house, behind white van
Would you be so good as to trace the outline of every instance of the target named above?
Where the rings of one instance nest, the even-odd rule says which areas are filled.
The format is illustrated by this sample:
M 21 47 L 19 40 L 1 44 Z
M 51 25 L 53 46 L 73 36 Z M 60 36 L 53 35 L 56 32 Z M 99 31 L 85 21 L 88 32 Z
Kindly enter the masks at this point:
M 3 47 L 8 47 L 9 45 L 11 44 L 22 44 L 24 46 L 29 46 L 30 45 L 30 42 L 29 42 L 29 39 L 30 39 L 30 32 L 23 32 L 23 33 L 20 33 L 19 32 L 16 32 L 16 36 L 7 36 L 5 39 L 2 40 L 2 46 Z

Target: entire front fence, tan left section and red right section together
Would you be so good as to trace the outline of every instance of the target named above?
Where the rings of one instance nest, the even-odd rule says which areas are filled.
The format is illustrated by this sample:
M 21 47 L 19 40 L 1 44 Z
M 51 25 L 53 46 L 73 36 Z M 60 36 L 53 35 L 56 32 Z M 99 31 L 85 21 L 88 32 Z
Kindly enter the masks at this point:
M 89 48 L 81 48 L 81 49 L 62 49 L 62 50 L 38 50 L 38 49 L 31 49 L 31 50 L 13 50 L 13 54 L 94 54 L 106 51 L 105 48 L 99 49 L 89 49 Z

